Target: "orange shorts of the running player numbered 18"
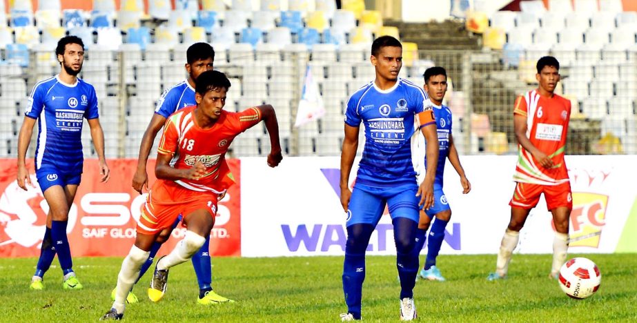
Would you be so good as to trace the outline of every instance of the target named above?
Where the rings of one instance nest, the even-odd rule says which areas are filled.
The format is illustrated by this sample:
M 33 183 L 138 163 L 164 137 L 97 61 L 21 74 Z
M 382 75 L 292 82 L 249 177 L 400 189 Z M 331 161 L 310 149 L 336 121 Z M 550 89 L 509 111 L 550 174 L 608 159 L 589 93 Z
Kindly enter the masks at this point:
M 173 181 L 158 179 L 141 206 L 137 233 L 155 235 L 173 225 L 179 215 L 188 216 L 206 209 L 212 217 L 217 213 L 217 193 L 189 190 Z

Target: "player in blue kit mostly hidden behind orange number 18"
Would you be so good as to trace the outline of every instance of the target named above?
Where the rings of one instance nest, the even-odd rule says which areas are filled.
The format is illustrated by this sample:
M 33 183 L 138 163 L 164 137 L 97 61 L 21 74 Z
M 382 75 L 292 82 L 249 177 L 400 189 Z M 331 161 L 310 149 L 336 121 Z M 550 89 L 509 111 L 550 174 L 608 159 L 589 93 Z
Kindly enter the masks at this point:
M 146 173 L 146 164 L 148 163 L 148 155 L 150 149 L 153 148 L 153 142 L 159 129 L 164 127 L 166 119 L 173 112 L 185 108 L 186 106 L 196 106 L 195 101 L 195 81 L 197 77 L 206 70 L 213 70 L 213 63 L 215 61 L 215 50 L 208 43 L 194 43 L 188 47 L 186 51 L 186 72 L 188 72 L 188 79 L 175 84 L 172 88 L 164 91 L 164 93 L 157 100 L 155 115 L 150 119 L 148 128 L 144 132 L 144 137 L 141 138 L 141 146 L 139 147 L 139 158 L 137 159 L 137 170 L 133 177 L 133 188 L 140 194 L 144 189 L 148 190 L 148 173 Z M 219 200 L 223 196 L 219 196 Z M 157 242 L 150 248 L 150 256 L 148 261 L 141 267 L 139 272 L 139 278 L 148 271 L 150 265 L 153 264 L 153 258 L 159 251 L 161 244 L 166 242 L 170 233 L 179 224 L 179 219 L 173 224 L 172 228 L 168 228 L 157 238 Z M 198 304 L 209 305 L 218 304 L 224 302 L 232 302 L 226 297 L 223 297 L 215 291 L 212 287 L 212 266 L 210 264 L 210 236 L 207 237 L 204 246 L 193 255 L 193 267 L 195 268 L 195 274 L 197 275 L 197 282 L 199 283 L 199 298 Z M 111 293 L 111 298 L 115 300 L 115 289 Z M 137 297 L 133 293 L 129 293 L 127 299 L 129 303 L 137 302 Z

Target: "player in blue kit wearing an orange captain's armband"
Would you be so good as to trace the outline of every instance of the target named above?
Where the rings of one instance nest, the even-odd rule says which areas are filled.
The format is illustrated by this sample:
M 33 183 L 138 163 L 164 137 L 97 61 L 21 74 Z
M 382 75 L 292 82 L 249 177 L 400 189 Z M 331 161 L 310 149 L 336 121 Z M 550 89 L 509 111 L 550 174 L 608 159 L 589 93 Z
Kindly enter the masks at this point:
M 343 265 L 343 292 L 347 313 L 341 320 L 360 320 L 365 251 L 385 206 L 389 208 L 400 277 L 400 318 L 416 317 L 413 286 L 418 275 L 418 255 L 413 252 L 418 231 L 418 210 L 433 205 L 433 180 L 438 161 L 435 120 L 427 93 L 398 77 L 402 44 L 382 36 L 373 41 L 371 63 L 374 81 L 357 90 L 347 103 L 345 137 L 341 155 L 340 197 L 346 212 L 347 242 Z M 349 176 L 358 149 L 360 124 L 365 126 L 365 146 L 353 190 Z M 422 160 L 418 135 L 427 142 L 427 175 L 418 185 L 416 165 Z

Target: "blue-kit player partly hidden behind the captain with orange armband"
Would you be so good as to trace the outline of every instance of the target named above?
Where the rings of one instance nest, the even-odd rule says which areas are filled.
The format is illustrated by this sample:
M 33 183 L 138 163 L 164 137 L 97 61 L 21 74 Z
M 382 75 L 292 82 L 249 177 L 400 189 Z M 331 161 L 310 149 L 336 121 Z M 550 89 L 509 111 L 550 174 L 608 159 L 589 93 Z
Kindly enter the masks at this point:
M 444 277 L 438 267 L 435 266 L 435 258 L 438 257 L 442 240 L 444 239 L 444 228 L 451 219 L 451 208 L 447 197 L 442 191 L 442 177 L 444 174 L 444 163 L 449 158 L 451 166 L 455 168 L 460 176 L 462 193 L 467 194 L 471 190 L 471 183 L 464 175 L 464 169 L 458 158 L 458 150 L 453 144 L 451 135 L 451 110 L 442 105 L 445 93 L 447 93 L 447 71 L 440 66 L 427 68 L 424 71 L 424 90 L 429 95 L 429 100 L 433 104 L 433 115 L 435 116 L 435 126 L 438 129 L 438 144 L 440 154 L 438 155 L 438 169 L 435 170 L 435 182 L 433 183 L 433 206 L 429 210 L 420 211 L 420 222 L 418 222 L 418 232 L 416 233 L 416 254 L 420 255 L 422 246 L 427 240 L 427 230 L 431 220 L 435 217 L 431 231 L 429 232 L 429 243 L 427 244 L 427 259 L 424 267 L 420 271 L 420 277 L 427 280 L 438 280 L 444 282 Z M 425 158 L 427 164 L 427 158 Z

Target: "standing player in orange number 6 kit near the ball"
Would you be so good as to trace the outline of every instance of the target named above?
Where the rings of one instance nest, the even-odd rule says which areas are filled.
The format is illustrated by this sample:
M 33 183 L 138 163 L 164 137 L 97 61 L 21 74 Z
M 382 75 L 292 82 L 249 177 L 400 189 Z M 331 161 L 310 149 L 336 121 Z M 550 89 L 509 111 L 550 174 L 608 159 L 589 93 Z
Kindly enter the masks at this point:
M 542 193 L 556 229 L 549 277 L 556 277 L 567 257 L 573 199 L 564 148 L 571 101 L 554 93 L 560 81 L 560 63 L 555 57 L 540 58 L 537 69 L 538 88 L 518 97 L 513 110 L 513 126 L 518 139 L 518 165 L 513 180 L 517 184 L 509 202 L 511 220 L 502 237 L 496 272 L 489 274 L 488 280 L 507 276 L 511 254 L 520 239 L 520 229 Z

